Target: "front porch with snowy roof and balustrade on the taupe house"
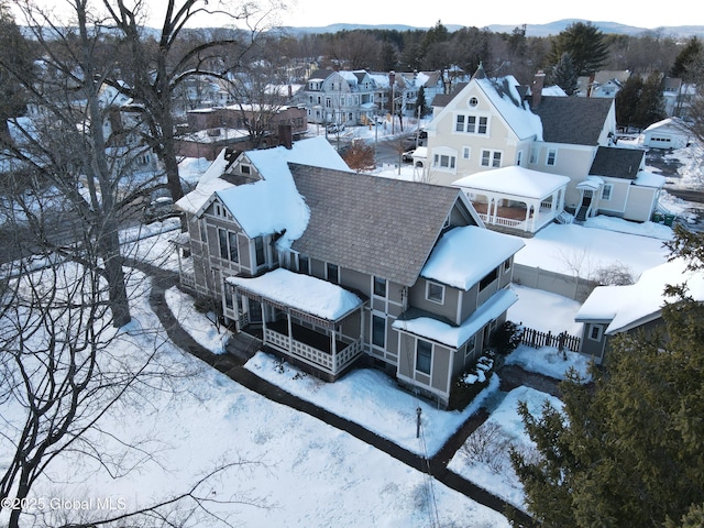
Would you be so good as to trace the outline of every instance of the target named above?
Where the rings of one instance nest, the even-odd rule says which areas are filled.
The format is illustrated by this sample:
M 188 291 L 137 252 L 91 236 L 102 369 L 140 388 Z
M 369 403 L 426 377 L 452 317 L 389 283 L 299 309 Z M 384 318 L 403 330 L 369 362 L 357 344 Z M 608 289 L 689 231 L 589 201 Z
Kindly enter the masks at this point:
M 260 277 L 231 277 L 238 331 L 261 332 L 268 346 L 334 381 L 362 355 L 364 302 L 334 284 L 287 270 Z

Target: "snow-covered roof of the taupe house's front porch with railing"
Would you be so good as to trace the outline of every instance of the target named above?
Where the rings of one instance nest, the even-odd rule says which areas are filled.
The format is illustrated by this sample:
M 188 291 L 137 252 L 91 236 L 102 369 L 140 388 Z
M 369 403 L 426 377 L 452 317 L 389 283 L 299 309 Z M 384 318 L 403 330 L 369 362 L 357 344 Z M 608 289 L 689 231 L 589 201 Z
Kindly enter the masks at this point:
M 336 284 L 284 268 L 254 278 L 229 277 L 227 280 L 268 300 L 328 321 L 337 321 L 363 304 L 356 295 Z

